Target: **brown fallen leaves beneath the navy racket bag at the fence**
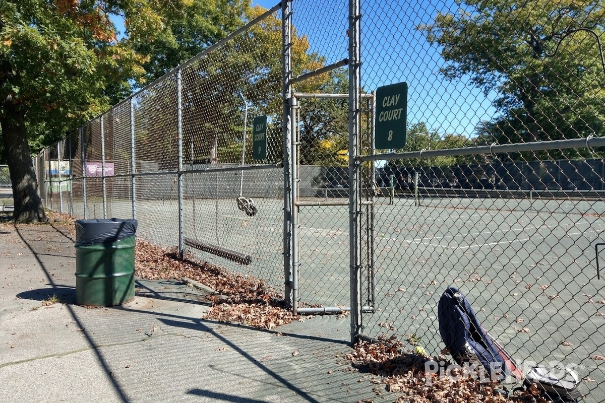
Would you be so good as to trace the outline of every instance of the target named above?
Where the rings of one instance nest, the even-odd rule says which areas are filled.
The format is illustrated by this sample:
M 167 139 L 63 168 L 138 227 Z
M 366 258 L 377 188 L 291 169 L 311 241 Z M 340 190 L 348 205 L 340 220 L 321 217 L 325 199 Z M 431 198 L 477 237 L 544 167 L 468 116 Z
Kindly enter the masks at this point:
M 456 369 L 452 376 L 439 376 L 439 373 L 426 373 L 425 363 L 430 360 L 450 363 L 444 357 L 428 358 L 411 352 L 405 352 L 401 341 L 395 337 L 381 338 L 376 343 L 360 341 L 353 352 L 345 355 L 352 361 L 353 366 L 367 370 L 381 379 L 373 379 L 374 384 L 384 384 L 388 392 L 399 393 L 397 403 L 414 402 L 448 402 L 448 403 L 506 403 L 506 402 L 535 402 L 546 403 L 544 399 L 533 396 L 507 399 L 495 392 L 498 382 L 492 381 L 481 384 L 477 379 L 463 374 Z M 384 390 L 382 389 L 382 390 Z M 373 388 L 380 396 L 382 390 Z

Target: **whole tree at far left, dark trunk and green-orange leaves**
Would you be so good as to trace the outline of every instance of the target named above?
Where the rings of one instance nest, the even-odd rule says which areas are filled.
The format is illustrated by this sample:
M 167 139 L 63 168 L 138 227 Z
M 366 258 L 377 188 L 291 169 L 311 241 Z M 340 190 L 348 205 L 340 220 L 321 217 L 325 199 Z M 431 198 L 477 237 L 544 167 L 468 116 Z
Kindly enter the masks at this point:
M 46 219 L 28 140 L 64 137 L 143 76 L 145 56 L 117 41 L 114 13 L 129 22 L 129 40 L 160 26 L 144 1 L 0 2 L 0 129 L 17 222 Z

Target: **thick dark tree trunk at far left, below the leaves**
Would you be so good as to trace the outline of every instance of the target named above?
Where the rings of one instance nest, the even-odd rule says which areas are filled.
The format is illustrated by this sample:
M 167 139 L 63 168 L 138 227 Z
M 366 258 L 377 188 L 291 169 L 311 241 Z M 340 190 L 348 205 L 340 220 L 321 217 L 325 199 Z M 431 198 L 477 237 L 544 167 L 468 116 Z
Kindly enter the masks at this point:
M 13 185 L 13 219 L 15 222 L 47 222 L 31 163 L 25 112 L 11 101 L 11 97 L 8 97 L 2 105 L 4 114 L 0 115 L 0 128 Z

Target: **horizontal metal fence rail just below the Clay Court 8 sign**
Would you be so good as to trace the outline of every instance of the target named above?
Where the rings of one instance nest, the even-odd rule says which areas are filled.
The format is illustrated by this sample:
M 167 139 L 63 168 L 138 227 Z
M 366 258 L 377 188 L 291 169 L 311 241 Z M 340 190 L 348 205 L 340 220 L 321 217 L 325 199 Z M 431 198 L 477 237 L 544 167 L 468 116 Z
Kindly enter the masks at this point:
M 411 158 L 430 158 L 435 156 L 453 156 L 453 155 L 476 155 L 476 154 L 495 154 L 499 152 L 522 152 L 522 151 L 543 151 L 543 150 L 563 150 L 572 148 L 590 148 L 605 146 L 605 137 L 586 137 L 573 138 L 571 140 L 551 140 L 534 141 L 530 143 L 514 144 L 491 144 L 489 146 L 460 147 L 454 149 L 440 149 L 410 151 L 401 153 L 380 153 L 373 155 L 362 155 L 356 159 L 358 161 L 379 161 L 379 160 L 410 160 Z

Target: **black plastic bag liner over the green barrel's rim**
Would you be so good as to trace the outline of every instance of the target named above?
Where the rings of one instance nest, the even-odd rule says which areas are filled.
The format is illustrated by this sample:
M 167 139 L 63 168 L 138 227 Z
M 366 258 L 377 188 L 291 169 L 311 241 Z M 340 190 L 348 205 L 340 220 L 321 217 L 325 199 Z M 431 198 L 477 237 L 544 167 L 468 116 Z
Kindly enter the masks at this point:
M 76 247 L 117 242 L 137 233 L 137 221 L 132 219 L 76 220 Z

